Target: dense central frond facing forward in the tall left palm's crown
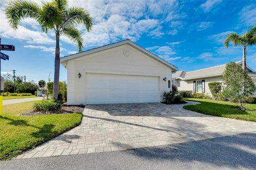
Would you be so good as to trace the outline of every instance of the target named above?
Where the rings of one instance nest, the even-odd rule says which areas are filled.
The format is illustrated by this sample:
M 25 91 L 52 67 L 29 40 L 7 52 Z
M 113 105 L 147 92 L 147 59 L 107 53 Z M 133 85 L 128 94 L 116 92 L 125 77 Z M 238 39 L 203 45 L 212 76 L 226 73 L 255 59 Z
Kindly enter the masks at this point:
M 42 30 L 47 32 L 48 29 L 53 29 L 54 25 L 61 22 L 61 12 L 53 2 L 43 4 L 39 15 L 39 24 Z

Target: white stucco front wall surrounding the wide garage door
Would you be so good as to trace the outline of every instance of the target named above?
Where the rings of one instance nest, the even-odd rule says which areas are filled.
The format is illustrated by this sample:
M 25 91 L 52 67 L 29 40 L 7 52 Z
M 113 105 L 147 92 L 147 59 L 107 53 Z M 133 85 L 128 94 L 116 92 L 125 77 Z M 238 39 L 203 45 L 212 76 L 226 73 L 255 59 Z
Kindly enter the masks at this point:
M 124 51 L 129 51 L 130 55 L 125 56 Z M 86 104 L 86 73 L 158 76 L 159 96 L 169 90 L 168 80 L 172 76 L 171 68 L 127 44 L 69 60 L 67 72 L 68 104 Z M 81 78 L 78 78 L 79 72 Z

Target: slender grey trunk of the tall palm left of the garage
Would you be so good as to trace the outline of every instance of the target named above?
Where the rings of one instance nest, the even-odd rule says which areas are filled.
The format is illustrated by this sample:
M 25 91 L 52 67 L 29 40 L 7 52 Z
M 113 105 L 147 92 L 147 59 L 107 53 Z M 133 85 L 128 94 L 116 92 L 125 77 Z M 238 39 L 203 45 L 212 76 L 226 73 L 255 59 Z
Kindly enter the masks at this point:
M 60 35 L 56 33 L 56 48 L 54 61 L 54 82 L 53 82 L 53 98 L 58 99 L 60 79 Z

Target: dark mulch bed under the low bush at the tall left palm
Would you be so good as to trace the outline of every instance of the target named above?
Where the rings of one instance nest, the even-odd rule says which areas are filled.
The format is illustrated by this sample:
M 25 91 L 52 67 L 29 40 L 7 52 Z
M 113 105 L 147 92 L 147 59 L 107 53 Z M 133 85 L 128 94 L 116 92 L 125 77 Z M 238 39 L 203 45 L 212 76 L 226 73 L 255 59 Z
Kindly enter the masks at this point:
M 30 110 L 22 116 L 36 116 L 36 115 L 51 115 L 51 114 L 73 114 L 73 113 L 82 113 L 84 111 L 84 106 L 63 106 L 61 110 L 58 111 L 49 111 L 49 112 L 35 112 Z

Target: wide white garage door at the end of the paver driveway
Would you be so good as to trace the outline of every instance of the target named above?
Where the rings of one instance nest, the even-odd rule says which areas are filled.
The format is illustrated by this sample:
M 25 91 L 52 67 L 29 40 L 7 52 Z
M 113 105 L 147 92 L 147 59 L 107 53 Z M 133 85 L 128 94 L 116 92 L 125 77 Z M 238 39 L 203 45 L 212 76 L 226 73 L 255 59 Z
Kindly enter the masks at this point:
M 86 103 L 159 102 L 159 78 L 86 73 Z

